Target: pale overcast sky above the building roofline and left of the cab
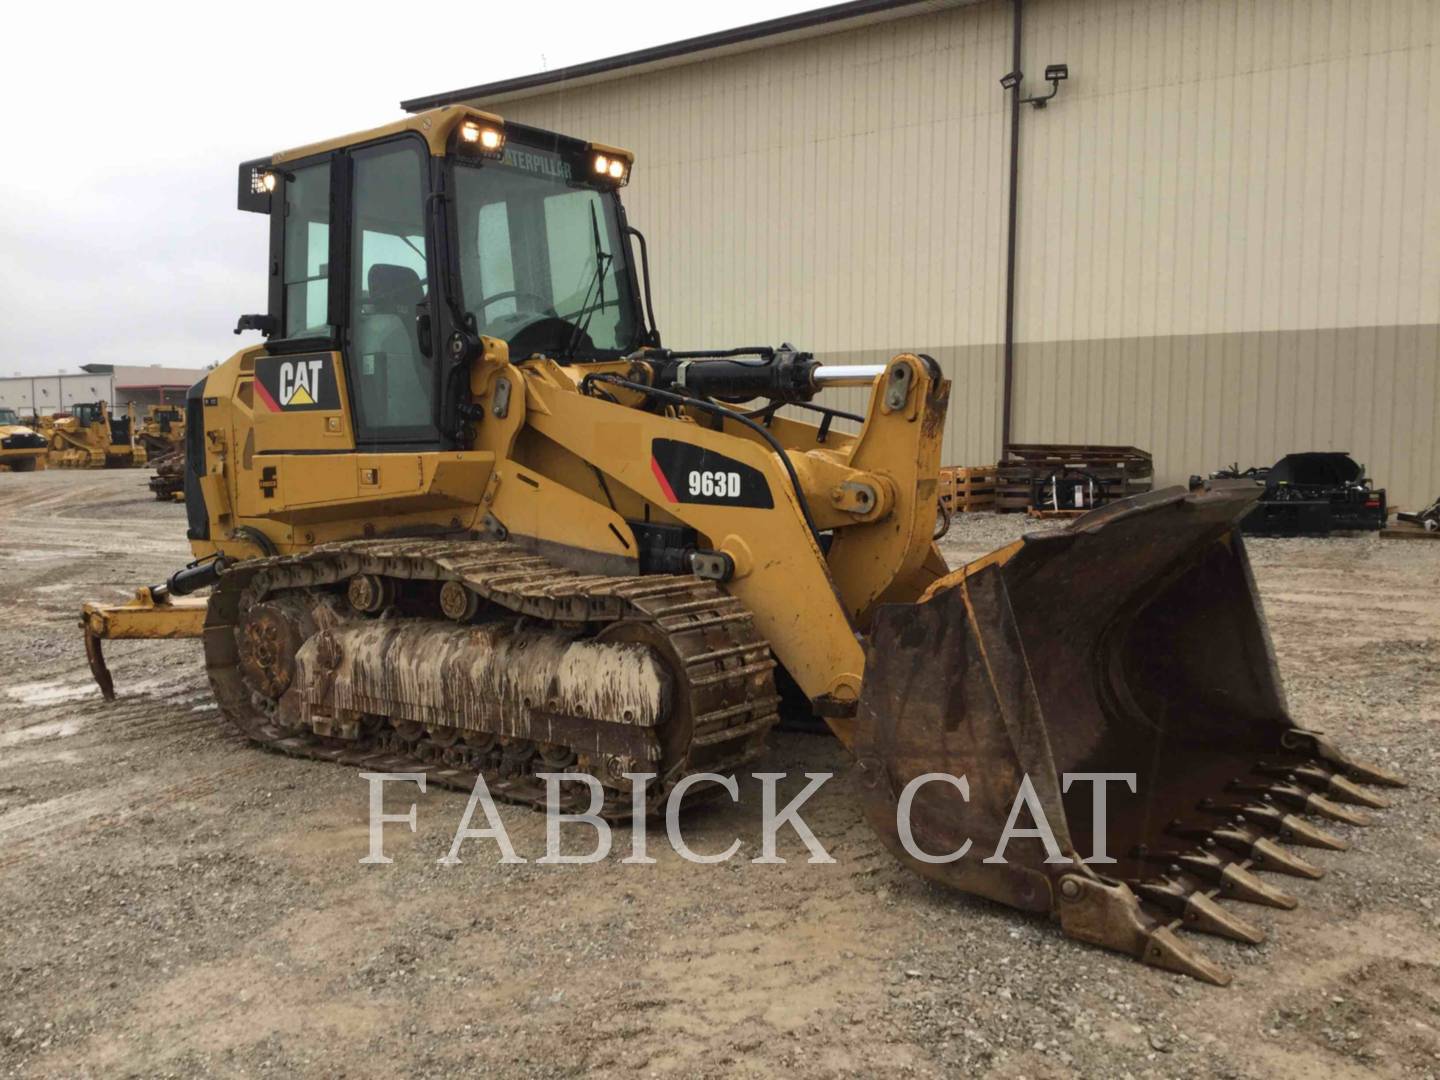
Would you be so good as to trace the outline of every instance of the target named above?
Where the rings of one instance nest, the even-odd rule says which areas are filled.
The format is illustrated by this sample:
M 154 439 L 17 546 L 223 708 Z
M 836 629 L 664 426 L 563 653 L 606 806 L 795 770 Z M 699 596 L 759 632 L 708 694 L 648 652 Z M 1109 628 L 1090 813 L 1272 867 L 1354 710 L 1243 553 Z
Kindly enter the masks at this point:
M 235 317 L 265 310 L 265 219 L 235 209 L 246 158 L 396 120 L 403 98 L 822 6 L 14 4 L 0 374 L 235 351 Z

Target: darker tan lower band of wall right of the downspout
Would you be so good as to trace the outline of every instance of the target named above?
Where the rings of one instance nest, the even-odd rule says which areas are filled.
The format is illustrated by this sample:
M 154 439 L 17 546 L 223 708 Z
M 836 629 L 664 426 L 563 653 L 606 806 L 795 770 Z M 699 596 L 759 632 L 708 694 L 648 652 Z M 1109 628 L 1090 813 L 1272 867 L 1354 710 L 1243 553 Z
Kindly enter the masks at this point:
M 1135 387 L 1143 408 L 1107 382 L 1125 369 L 1146 373 Z M 1391 503 L 1414 507 L 1440 494 L 1437 372 L 1437 325 L 1027 343 L 1015 439 L 1143 446 L 1162 484 L 1297 449 L 1349 451 Z M 1109 387 L 1099 402 L 1096 386 Z

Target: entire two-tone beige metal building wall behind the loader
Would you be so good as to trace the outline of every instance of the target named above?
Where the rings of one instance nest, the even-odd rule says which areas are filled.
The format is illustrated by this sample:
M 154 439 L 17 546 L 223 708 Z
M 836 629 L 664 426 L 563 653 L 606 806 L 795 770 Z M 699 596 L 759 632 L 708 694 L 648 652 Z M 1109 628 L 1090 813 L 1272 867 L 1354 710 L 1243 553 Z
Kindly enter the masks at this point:
M 1440 3 L 1028 0 L 1014 438 L 1440 492 Z M 667 343 L 933 354 L 999 441 L 1008 3 L 481 102 L 638 154 Z M 854 395 L 850 395 L 852 399 Z M 845 403 L 845 402 L 837 402 Z M 854 405 L 854 400 L 848 402 Z

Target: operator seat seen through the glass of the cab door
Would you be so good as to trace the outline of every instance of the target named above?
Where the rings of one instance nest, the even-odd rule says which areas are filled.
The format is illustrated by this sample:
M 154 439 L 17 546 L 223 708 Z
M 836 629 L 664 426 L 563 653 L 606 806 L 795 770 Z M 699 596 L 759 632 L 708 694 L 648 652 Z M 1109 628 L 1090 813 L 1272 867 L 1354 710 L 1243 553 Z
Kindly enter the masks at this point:
M 370 428 L 428 428 L 432 422 L 431 364 L 420 354 L 416 304 L 420 275 L 377 262 L 366 275 L 367 298 L 356 320 L 356 396 Z

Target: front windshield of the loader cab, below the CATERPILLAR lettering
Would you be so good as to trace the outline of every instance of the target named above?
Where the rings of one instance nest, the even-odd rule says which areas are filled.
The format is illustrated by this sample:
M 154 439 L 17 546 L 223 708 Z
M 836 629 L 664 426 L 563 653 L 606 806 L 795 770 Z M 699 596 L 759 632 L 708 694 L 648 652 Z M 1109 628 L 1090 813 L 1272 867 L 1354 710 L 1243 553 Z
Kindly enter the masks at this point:
M 464 307 L 516 359 L 612 359 L 639 346 L 618 200 L 570 170 L 516 144 L 501 161 L 455 167 Z

